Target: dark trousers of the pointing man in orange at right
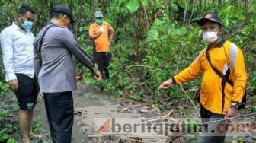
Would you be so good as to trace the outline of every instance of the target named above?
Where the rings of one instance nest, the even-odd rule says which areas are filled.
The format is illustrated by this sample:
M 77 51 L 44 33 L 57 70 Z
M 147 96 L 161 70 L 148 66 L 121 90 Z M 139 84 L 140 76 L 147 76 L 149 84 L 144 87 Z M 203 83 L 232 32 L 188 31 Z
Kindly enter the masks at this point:
M 203 135 L 203 141 L 207 143 L 224 143 L 225 142 L 225 137 L 226 137 L 226 132 L 219 132 L 218 131 L 218 125 L 219 123 L 222 122 L 214 122 L 219 119 L 224 119 L 224 115 L 221 114 L 216 114 L 216 113 L 211 113 L 209 110 L 206 110 L 203 108 L 203 106 L 200 107 L 200 116 L 202 119 L 202 123 L 206 122 L 213 122 L 213 123 L 208 123 L 205 127 L 205 133 Z

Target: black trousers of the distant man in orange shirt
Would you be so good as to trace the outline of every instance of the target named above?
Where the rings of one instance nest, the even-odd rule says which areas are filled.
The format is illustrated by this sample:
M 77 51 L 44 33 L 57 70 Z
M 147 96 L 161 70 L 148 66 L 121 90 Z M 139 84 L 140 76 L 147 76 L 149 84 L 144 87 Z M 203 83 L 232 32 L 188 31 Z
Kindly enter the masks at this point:
M 98 65 L 98 70 L 104 78 L 110 78 L 108 67 L 110 65 L 111 52 L 94 52 L 93 59 Z

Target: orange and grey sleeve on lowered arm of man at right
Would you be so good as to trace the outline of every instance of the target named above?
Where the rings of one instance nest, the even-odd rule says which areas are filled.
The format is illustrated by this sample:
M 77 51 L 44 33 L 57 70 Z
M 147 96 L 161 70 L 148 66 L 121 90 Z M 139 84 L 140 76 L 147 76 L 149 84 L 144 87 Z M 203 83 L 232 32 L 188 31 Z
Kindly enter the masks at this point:
M 242 97 L 245 94 L 245 85 L 247 81 L 247 74 L 245 69 L 244 56 L 242 50 L 235 47 L 235 53 L 231 54 L 231 64 L 234 70 L 234 87 L 233 87 L 233 96 L 232 102 L 242 102 Z

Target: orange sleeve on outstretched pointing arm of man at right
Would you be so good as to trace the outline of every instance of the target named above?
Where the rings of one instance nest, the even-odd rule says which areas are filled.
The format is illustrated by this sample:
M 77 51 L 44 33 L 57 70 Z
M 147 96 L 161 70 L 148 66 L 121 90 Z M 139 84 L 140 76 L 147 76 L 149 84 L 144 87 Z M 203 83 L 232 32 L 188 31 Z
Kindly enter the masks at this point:
M 174 82 L 176 84 L 182 84 L 184 82 L 190 81 L 194 78 L 197 78 L 200 74 L 203 73 L 202 65 L 200 64 L 200 56 L 203 52 L 200 53 L 199 56 L 190 64 L 189 67 L 185 68 L 183 71 L 178 73 L 178 75 L 174 76 Z

